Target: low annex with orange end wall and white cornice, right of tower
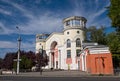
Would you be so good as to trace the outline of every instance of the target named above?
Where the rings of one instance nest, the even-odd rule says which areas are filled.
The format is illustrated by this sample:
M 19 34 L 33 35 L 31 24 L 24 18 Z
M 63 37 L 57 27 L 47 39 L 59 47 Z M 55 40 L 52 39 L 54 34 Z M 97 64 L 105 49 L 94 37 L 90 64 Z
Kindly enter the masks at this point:
M 112 55 L 109 48 L 97 43 L 86 43 L 80 53 L 80 70 L 90 74 L 113 74 Z

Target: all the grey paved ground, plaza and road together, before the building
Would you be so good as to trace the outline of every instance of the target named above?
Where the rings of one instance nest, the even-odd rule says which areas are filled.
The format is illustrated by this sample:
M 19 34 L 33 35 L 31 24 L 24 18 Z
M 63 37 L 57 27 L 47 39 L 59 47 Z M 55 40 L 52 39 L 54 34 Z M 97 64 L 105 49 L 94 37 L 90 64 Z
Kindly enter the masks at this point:
M 120 81 L 120 76 L 91 76 L 82 71 L 44 71 L 0 75 L 0 81 Z

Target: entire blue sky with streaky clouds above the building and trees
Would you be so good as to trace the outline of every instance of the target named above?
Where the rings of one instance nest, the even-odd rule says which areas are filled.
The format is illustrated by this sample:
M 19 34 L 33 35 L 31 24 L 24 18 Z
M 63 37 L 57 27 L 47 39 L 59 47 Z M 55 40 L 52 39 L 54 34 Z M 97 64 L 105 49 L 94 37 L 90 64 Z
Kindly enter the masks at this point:
M 69 16 L 83 16 L 87 27 L 105 26 L 109 31 L 109 5 L 110 0 L 0 0 L 0 57 L 17 51 L 16 26 L 25 51 L 35 51 L 36 34 L 62 31 L 62 20 Z

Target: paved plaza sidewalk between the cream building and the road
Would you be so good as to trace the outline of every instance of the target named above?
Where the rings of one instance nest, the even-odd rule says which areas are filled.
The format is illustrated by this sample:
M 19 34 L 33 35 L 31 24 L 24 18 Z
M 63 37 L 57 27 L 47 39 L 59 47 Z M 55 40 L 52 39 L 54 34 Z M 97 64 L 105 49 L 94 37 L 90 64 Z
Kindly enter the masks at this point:
M 29 77 L 81 77 L 90 76 L 89 74 L 82 71 L 43 71 L 42 75 L 40 72 L 24 72 L 16 74 L 3 74 L 1 76 L 29 76 Z

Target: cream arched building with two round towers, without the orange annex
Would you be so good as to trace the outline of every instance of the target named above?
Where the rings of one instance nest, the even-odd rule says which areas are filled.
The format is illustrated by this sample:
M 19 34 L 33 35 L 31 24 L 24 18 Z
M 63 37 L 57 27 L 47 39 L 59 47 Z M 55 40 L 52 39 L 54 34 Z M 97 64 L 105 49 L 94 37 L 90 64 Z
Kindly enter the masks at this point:
M 36 35 L 36 53 L 43 46 L 49 56 L 49 65 L 46 68 L 79 69 L 79 52 L 85 38 L 86 21 L 84 17 L 72 16 L 63 20 L 64 29 L 61 33 Z

